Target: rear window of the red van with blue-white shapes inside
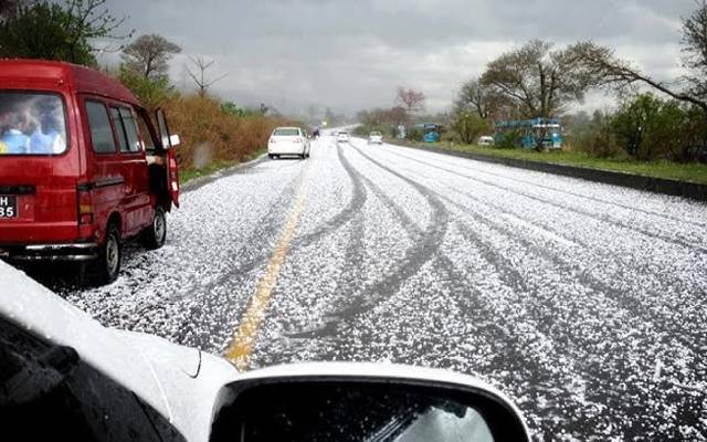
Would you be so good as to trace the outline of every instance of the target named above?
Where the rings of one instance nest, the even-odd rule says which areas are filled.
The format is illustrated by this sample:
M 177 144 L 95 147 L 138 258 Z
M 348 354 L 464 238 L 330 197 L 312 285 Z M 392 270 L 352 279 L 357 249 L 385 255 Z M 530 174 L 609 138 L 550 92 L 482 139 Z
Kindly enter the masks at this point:
M 64 115 L 59 95 L 0 91 L 0 156 L 63 154 Z

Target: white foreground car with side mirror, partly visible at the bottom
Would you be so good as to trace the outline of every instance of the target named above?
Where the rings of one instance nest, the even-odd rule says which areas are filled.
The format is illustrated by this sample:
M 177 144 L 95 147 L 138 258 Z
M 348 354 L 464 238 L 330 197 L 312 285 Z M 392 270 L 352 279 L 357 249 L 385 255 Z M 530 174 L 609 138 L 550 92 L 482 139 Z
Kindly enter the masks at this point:
M 240 372 L 103 327 L 2 261 L 0 287 L 0 421 L 11 440 L 333 440 L 318 436 L 341 429 L 347 440 L 530 440 L 518 409 L 469 376 L 326 362 Z

